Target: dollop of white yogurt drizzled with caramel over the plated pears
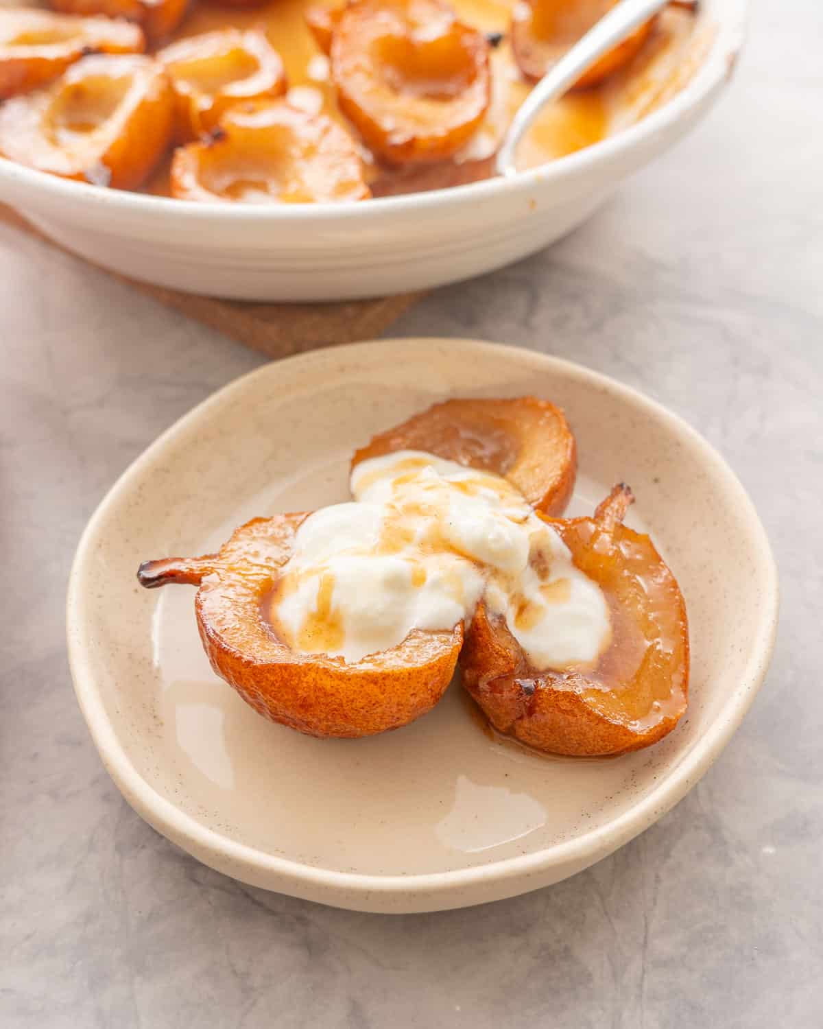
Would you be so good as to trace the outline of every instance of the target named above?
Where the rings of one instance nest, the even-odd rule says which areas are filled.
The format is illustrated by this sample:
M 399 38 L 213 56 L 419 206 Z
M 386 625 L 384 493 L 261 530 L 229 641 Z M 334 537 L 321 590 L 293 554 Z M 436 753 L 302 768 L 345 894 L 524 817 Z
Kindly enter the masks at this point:
M 481 598 L 537 670 L 608 645 L 600 588 L 506 480 L 398 451 L 361 462 L 351 486 L 354 502 L 303 522 L 283 568 L 271 614 L 295 650 L 356 662 L 467 624 Z

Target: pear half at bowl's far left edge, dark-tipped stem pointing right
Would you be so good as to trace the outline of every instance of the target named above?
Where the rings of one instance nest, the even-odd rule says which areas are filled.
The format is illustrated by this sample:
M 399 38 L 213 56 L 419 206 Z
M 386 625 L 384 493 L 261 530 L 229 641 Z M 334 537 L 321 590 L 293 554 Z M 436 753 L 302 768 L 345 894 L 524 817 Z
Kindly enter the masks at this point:
M 47 10 L 0 10 L 0 100 L 29 93 L 92 50 L 140 54 L 143 32 L 107 17 L 72 17 Z

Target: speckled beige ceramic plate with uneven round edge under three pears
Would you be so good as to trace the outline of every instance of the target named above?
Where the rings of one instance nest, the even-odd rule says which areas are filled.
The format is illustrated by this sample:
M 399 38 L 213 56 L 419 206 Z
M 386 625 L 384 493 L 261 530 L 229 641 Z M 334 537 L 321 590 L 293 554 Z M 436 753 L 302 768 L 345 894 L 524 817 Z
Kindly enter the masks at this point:
M 618 480 L 688 605 L 691 704 L 649 750 L 547 758 L 490 738 L 453 683 L 430 714 L 366 740 L 271 724 L 212 674 L 194 591 L 140 590 L 144 558 L 202 554 L 254 514 L 347 498 L 354 448 L 449 396 L 534 393 L 577 435 L 573 510 Z M 206 864 L 339 907 L 431 911 L 570 876 L 692 786 L 760 684 L 777 618 L 762 526 L 723 460 L 663 407 L 582 367 L 458 340 L 398 340 L 267 364 L 123 474 L 80 541 L 68 599 L 77 697 L 129 803 Z

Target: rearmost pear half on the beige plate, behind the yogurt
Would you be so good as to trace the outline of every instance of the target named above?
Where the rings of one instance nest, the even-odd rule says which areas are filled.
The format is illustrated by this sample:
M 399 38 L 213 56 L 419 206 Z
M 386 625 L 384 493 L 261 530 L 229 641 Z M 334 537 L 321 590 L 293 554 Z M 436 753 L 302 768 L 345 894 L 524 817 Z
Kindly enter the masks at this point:
M 398 450 L 427 451 L 502 475 L 537 510 L 562 513 L 577 472 L 574 436 L 560 407 L 532 396 L 455 399 L 374 436 L 352 466 Z

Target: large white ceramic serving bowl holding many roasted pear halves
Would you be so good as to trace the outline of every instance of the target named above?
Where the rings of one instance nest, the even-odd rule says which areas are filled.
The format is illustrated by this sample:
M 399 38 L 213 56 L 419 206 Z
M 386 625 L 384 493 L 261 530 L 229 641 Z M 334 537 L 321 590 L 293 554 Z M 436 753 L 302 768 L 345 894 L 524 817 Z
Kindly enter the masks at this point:
M 0 158 L 0 201 L 96 264 L 188 292 L 334 300 L 467 279 L 580 224 L 710 108 L 742 45 L 746 0 L 704 6 L 716 35 L 681 93 L 636 126 L 511 179 L 359 204 L 193 204 L 72 182 Z

